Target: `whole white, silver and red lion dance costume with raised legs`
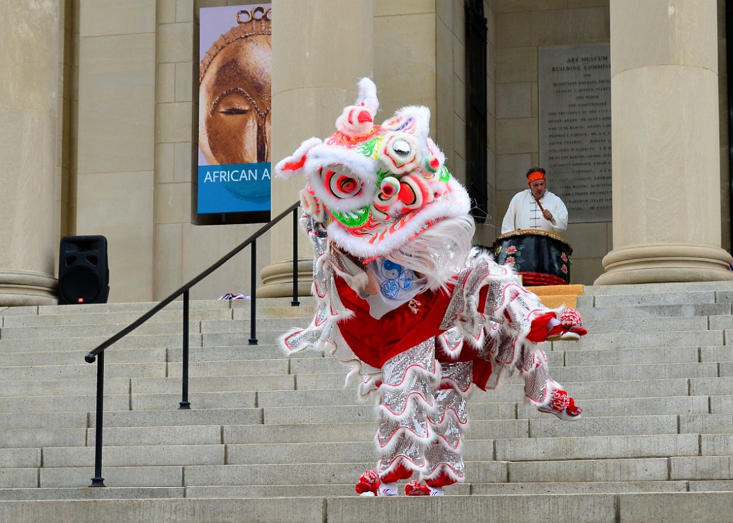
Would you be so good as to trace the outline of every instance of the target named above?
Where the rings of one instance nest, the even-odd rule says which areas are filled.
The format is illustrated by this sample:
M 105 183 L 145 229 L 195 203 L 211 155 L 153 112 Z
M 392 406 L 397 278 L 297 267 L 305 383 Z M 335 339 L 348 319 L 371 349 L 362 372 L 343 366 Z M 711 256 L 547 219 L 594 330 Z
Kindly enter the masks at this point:
M 380 454 L 362 495 L 442 495 L 463 481 L 472 385 L 518 372 L 526 403 L 562 419 L 581 410 L 551 379 L 537 343 L 586 334 L 577 312 L 551 311 L 508 267 L 471 247 L 464 187 L 428 137 L 430 111 L 402 108 L 374 124 L 372 80 L 325 140 L 310 138 L 276 165 L 302 174 L 301 226 L 314 247 L 317 312 L 281 337 L 288 354 L 326 350 L 375 396 Z

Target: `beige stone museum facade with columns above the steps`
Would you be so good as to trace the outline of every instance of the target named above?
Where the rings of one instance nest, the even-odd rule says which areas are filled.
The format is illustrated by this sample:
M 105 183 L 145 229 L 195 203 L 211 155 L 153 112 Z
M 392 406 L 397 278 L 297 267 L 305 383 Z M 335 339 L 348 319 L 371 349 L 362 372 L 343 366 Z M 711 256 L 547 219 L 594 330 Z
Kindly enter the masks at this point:
M 108 238 L 109 301 L 155 301 L 260 225 L 202 225 L 198 13 L 231 0 L 7 0 L 0 4 L 0 306 L 56 303 L 59 239 Z M 356 82 L 381 113 L 427 105 L 466 176 L 464 0 L 272 0 L 273 160 L 328 135 Z M 483 0 L 487 214 L 539 163 L 542 46 L 610 42 L 613 219 L 572 222 L 572 282 L 732 279 L 723 0 Z M 550 173 L 550 189 L 551 173 Z M 273 216 L 297 199 L 273 183 Z M 258 296 L 287 296 L 290 225 L 258 242 Z M 274 239 L 273 239 L 274 238 Z M 301 288 L 309 252 L 301 242 Z M 191 292 L 248 293 L 248 252 Z

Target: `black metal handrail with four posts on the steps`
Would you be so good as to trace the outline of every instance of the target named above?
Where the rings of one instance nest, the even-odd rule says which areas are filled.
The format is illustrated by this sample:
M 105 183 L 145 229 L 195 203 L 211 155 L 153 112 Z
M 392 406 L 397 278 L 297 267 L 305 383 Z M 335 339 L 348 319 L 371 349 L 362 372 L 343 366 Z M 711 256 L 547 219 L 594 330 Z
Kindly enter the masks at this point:
M 190 282 L 175 290 L 170 296 L 161 301 L 158 305 L 154 306 L 144 315 L 139 317 L 137 320 L 130 323 L 127 327 L 123 328 L 114 336 L 107 339 L 106 341 L 97 345 L 93 350 L 84 355 L 84 361 L 92 364 L 97 361 L 97 417 L 95 426 L 95 477 L 92 478 L 92 484 L 89 486 L 105 486 L 104 478 L 102 477 L 102 426 L 103 426 L 103 407 L 104 407 L 104 351 L 107 347 L 110 347 L 120 339 L 124 338 L 130 332 L 141 326 L 147 320 L 150 320 L 155 314 L 165 308 L 172 301 L 176 300 L 179 296 L 183 296 L 183 385 L 182 385 L 182 399 L 179 403 L 179 410 L 190 410 L 191 403 L 188 402 L 188 291 L 191 287 L 194 287 L 202 279 L 209 274 L 213 273 L 219 267 L 223 266 L 224 263 L 229 261 L 230 258 L 237 255 L 248 245 L 252 246 L 251 251 L 251 301 L 250 301 L 250 337 L 248 345 L 257 345 L 257 336 L 255 336 L 256 329 L 255 323 L 257 321 L 255 301 L 257 299 L 256 291 L 256 277 L 255 268 L 257 267 L 257 238 L 265 234 L 270 230 L 276 223 L 292 213 L 292 301 L 291 306 L 299 306 L 298 301 L 298 206 L 299 202 L 295 202 L 292 206 L 282 211 L 277 217 L 270 220 L 266 225 L 261 227 L 252 236 L 247 238 L 237 247 L 222 256 L 212 266 L 202 271 L 198 276 L 191 279 Z M 98 358 L 97 358 L 98 356 Z

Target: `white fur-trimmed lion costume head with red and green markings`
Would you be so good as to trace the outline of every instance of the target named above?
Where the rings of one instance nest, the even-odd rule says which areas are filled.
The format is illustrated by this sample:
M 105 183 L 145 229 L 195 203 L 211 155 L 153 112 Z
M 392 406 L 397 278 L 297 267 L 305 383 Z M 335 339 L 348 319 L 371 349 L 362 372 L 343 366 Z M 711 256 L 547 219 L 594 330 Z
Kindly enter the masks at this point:
M 336 119 L 336 132 L 304 141 L 275 172 L 305 176 L 306 214 L 325 223 L 340 247 L 372 258 L 404 247 L 438 222 L 467 216 L 470 200 L 428 136 L 428 108 L 408 106 L 376 125 L 376 86 L 362 78 L 358 89 L 356 103 Z

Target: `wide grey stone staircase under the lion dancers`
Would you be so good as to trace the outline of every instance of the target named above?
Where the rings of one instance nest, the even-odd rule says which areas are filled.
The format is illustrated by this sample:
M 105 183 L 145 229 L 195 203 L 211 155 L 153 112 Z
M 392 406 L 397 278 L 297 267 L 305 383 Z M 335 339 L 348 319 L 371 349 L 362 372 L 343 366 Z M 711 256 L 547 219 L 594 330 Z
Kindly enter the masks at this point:
M 372 405 L 330 357 L 283 358 L 312 298 L 191 304 L 192 410 L 181 304 L 106 351 L 103 470 L 96 365 L 84 355 L 152 304 L 0 310 L 0 522 L 729 522 L 733 284 L 584 287 L 589 334 L 545 344 L 585 409 L 569 423 L 475 391 L 467 482 L 443 498 L 358 497 L 374 467 Z

